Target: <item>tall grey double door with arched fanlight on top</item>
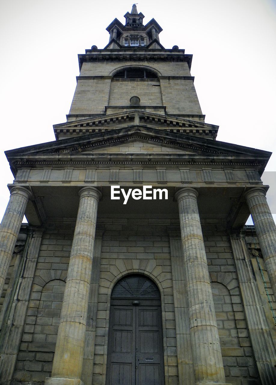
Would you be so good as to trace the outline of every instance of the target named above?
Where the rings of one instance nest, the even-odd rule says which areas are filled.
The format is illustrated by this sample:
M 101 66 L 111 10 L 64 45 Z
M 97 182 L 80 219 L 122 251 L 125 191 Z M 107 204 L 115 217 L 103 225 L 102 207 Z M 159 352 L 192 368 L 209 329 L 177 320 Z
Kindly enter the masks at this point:
M 110 301 L 106 385 L 164 385 L 160 293 L 149 278 L 130 275 Z

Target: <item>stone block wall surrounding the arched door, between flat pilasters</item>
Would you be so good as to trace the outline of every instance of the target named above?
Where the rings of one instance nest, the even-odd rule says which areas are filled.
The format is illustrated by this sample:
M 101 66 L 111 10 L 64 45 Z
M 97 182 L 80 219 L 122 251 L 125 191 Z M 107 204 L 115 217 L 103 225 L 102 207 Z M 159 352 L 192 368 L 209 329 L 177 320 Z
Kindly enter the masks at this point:
M 115 224 L 116 222 L 116 224 Z M 177 385 L 176 331 L 169 237 L 160 221 L 122 219 L 105 224 L 102 240 L 93 385 L 105 384 L 110 295 L 130 273 L 149 276 L 161 292 L 166 385 Z

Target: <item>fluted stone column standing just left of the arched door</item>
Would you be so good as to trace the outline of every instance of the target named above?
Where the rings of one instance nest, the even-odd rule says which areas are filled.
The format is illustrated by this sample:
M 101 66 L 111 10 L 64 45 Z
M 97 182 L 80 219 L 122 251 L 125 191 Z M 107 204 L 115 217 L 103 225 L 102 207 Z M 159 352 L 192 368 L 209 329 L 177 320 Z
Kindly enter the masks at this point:
M 82 361 L 100 191 L 84 187 L 72 244 L 52 378 L 45 385 L 82 385 Z

